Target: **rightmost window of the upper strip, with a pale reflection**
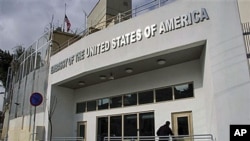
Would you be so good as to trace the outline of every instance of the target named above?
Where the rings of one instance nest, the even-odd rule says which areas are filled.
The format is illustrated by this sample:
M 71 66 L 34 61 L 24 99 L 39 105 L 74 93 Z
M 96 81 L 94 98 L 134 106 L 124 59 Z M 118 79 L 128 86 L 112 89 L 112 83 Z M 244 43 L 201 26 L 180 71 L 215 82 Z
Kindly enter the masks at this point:
M 174 97 L 175 99 L 193 97 L 193 84 L 182 84 L 174 86 Z

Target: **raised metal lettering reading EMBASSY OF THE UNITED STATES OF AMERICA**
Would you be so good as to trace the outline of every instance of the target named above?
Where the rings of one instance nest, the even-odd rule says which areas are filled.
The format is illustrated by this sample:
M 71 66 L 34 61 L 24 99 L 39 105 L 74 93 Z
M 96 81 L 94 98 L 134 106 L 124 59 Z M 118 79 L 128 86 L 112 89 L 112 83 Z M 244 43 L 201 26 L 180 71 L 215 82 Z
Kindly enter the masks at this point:
M 207 10 L 205 8 L 201 8 L 200 10 L 194 10 L 187 14 L 161 21 L 159 24 L 148 25 L 143 29 L 138 28 L 132 32 L 114 37 L 110 41 L 103 41 L 99 44 L 87 47 L 79 52 L 76 52 L 74 55 L 53 65 L 51 67 L 51 74 L 54 74 L 87 58 L 106 53 L 112 49 L 119 49 L 121 47 L 140 42 L 144 38 L 153 38 L 156 34 L 167 34 L 168 32 L 184 28 L 186 26 L 195 25 L 206 20 L 209 20 Z

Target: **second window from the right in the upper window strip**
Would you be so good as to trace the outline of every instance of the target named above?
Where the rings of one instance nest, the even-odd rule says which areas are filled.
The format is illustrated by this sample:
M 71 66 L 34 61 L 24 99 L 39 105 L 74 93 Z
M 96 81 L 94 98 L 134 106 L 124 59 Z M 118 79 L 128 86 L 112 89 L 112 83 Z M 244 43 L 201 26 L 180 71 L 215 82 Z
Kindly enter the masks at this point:
M 173 100 L 172 87 L 155 90 L 156 102 Z

